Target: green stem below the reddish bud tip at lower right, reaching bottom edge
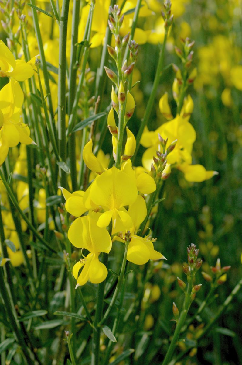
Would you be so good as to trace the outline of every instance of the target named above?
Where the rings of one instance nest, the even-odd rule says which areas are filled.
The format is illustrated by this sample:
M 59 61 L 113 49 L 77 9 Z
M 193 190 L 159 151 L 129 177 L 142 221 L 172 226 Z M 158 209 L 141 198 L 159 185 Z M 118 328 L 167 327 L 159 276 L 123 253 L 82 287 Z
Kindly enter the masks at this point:
M 172 337 L 170 346 L 169 346 L 168 351 L 165 355 L 165 358 L 163 360 L 162 365 L 167 365 L 169 363 L 169 361 L 171 360 L 171 357 L 172 357 L 173 352 L 174 352 L 175 347 L 176 347 L 176 343 L 179 339 L 180 332 L 182 330 L 182 326 L 183 326 L 183 324 L 186 320 L 187 313 L 188 313 L 188 310 L 189 310 L 190 304 L 191 304 L 191 291 L 192 291 L 193 278 L 194 278 L 194 274 L 191 277 L 188 277 L 188 286 L 187 286 L 187 292 L 185 294 L 185 300 L 184 300 L 184 303 L 183 303 L 183 310 L 182 310 L 182 312 L 179 316 L 179 319 L 177 321 L 174 335 Z

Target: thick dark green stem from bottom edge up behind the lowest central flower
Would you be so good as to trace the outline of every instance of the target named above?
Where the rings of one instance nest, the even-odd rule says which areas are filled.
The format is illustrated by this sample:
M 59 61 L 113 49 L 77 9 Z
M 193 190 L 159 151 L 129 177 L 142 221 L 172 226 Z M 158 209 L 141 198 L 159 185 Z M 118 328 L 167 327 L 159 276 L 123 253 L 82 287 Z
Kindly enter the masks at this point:
M 105 266 L 108 264 L 108 254 L 102 253 L 102 262 Z M 100 335 L 101 327 L 98 326 L 99 322 L 102 320 L 102 311 L 104 305 L 104 289 L 105 280 L 98 285 L 97 291 L 97 307 L 94 319 L 94 330 L 93 330 L 93 342 L 92 342 L 92 352 L 91 352 L 91 365 L 99 364 L 99 347 L 100 347 Z

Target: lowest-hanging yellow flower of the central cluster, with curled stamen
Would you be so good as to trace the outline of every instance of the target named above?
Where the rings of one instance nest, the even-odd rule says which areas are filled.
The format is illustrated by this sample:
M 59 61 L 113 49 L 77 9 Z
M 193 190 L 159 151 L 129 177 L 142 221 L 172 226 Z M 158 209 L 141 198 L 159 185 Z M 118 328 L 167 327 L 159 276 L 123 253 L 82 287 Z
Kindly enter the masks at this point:
M 68 238 L 75 247 L 90 251 L 87 257 L 73 267 L 73 276 L 77 279 L 76 288 L 86 284 L 89 279 L 93 284 L 101 283 L 108 274 L 106 266 L 99 262 L 98 256 L 100 252 L 110 252 L 112 240 L 106 228 L 98 227 L 93 217 L 87 215 L 77 218 L 68 231 Z M 82 272 L 78 275 L 82 267 Z

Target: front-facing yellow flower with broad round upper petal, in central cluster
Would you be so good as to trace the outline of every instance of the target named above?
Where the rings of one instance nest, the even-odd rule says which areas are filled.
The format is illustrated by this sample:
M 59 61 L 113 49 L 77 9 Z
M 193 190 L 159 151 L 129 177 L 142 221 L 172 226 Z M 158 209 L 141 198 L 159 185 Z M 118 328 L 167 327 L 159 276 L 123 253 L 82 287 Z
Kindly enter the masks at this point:
M 89 195 L 88 190 L 83 196 L 84 205 Z M 125 227 L 129 228 L 132 225 L 130 216 L 120 209 L 125 205 L 132 204 L 136 200 L 137 193 L 135 181 L 116 167 L 112 167 L 97 176 L 90 186 L 90 199 L 105 210 L 100 215 L 97 225 L 107 227 L 113 218 L 115 226 L 119 216 Z

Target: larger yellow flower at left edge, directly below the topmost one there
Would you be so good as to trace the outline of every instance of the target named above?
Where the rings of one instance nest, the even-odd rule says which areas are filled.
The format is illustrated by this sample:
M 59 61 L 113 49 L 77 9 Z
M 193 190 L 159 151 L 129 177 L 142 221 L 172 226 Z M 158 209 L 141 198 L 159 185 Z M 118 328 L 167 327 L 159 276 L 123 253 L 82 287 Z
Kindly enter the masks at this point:
M 0 90 L 0 165 L 8 154 L 9 147 L 24 143 L 30 145 L 30 129 L 20 120 L 23 91 L 17 81 L 10 82 Z

